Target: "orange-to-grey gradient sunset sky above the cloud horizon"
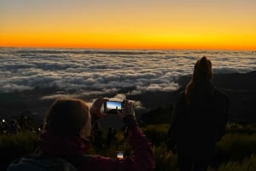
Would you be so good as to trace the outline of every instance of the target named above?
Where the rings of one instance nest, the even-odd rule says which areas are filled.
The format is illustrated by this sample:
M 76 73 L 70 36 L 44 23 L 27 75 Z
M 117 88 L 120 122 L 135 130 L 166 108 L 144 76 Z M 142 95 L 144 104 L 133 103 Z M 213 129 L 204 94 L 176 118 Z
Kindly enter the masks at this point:
M 0 47 L 256 49 L 256 1 L 0 0 Z

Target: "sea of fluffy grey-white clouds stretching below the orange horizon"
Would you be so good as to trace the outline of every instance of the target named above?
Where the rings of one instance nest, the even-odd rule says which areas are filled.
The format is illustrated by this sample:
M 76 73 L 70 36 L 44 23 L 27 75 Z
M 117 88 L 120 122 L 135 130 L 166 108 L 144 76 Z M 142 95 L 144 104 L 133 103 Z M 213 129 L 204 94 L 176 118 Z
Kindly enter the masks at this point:
M 206 55 L 215 73 L 256 70 L 255 51 L 0 48 L 0 92 L 58 88 L 62 93 L 173 91 Z M 60 94 L 45 96 L 55 98 Z

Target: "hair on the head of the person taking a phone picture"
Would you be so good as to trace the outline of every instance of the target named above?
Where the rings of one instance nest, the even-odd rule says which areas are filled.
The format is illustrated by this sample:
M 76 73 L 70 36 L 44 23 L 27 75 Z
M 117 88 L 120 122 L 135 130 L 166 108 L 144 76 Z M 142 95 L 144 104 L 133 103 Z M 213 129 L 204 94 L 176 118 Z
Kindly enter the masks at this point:
M 49 107 L 44 131 L 59 136 L 79 136 L 89 115 L 89 107 L 83 100 L 57 99 Z

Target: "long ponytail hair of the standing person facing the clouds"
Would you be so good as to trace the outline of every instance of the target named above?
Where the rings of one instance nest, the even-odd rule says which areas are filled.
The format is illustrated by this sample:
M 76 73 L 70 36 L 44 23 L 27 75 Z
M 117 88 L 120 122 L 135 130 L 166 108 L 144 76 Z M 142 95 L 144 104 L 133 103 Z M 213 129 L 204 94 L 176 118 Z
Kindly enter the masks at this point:
M 212 62 L 206 56 L 197 60 L 194 67 L 194 73 L 191 81 L 185 89 L 185 98 L 188 103 L 191 102 L 196 86 L 206 83 L 212 78 Z

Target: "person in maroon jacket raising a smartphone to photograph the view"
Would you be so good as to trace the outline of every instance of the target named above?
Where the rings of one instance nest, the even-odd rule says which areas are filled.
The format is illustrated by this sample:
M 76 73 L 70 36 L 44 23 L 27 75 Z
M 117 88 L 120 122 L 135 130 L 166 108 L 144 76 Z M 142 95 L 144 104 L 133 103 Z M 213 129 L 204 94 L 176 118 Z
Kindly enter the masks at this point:
M 37 154 L 44 157 L 61 157 L 72 163 L 79 171 L 154 170 L 155 163 L 150 148 L 151 143 L 138 127 L 133 105 L 128 100 L 124 100 L 122 111 L 117 112 L 128 128 L 131 156 L 88 156 L 92 124 L 99 118 L 109 115 L 101 111 L 102 105 L 106 101 L 108 100 L 98 98 L 89 108 L 83 100 L 79 99 L 55 100 L 49 107 L 45 118 Z M 19 167 L 19 164 L 11 164 L 9 170 Z

